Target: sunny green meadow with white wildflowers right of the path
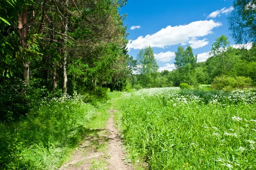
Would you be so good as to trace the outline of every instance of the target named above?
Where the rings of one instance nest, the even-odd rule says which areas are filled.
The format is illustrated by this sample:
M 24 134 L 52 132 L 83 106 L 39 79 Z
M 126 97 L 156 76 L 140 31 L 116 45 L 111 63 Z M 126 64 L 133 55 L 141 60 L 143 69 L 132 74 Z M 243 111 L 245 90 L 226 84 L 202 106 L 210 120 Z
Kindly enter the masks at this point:
M 256 169 L 253 89 L 143 89 L 123 94 L 121 112 L 128 153 L 146 169 Z

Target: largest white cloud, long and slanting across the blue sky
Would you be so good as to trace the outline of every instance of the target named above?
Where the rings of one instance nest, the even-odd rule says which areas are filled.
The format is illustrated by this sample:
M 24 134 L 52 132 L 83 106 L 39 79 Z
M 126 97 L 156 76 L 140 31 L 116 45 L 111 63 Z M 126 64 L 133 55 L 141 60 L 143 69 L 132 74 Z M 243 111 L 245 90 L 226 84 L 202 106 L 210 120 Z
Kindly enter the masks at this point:
M 222 23 L 213 20 L 195 21 L 188 25 L 167 26 L 155 34 L 140 36 L 136 40 L 129 40 L 128 50 L 142 49 L 147 46 L 165 48 L 170 45 L 189 44 L 192 48 L 200 48 L 207 45 L 207 39 L 198 40 L 212 34 L 212 29 L 222 26 Z

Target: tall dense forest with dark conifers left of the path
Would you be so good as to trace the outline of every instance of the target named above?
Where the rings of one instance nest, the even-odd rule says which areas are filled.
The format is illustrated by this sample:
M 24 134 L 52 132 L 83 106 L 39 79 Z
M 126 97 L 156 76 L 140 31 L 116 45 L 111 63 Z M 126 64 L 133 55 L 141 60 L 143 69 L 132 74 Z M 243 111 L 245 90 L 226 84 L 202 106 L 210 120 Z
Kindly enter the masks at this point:
M 32 99 L 122 88 L 130 72 L 125 4 L 0 0 L 1 118 L 25 115 Z

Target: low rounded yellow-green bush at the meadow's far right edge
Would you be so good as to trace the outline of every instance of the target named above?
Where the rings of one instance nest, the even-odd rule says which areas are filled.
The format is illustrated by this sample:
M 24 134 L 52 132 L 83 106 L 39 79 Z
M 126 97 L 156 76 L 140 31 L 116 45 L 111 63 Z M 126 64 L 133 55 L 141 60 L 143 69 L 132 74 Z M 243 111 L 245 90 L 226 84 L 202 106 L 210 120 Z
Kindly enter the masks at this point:
M 232 91 L 236 88 L 249 88 L 252 85 L 250 77 L 215 77 L 212 82 L 212 88 L 216 90 Z

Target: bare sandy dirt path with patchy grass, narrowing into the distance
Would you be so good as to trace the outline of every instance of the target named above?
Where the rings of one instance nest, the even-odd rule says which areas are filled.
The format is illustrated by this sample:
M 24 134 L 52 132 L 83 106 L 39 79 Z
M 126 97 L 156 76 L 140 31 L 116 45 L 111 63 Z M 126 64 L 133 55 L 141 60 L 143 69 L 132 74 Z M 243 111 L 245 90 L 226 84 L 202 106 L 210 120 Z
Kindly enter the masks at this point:
M 71 161 L 62 165 L 60 170 L 133 170 L 122 150 L 113 120 L 114 112 L 116 110 L 111 108 L 111 117 L 105 129 L 90 129 L 91 135 L 84 137 L 72 154 Z

